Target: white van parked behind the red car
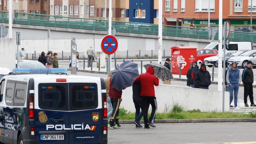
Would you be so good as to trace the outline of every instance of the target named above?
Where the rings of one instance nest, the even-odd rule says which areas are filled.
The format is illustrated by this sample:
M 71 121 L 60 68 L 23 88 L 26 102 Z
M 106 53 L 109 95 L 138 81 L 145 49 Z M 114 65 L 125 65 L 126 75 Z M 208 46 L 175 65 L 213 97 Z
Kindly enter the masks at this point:
M 204 49 L 217 49 L 219 45 L 218 42 L 211 42 Z M 223 49 L 223 45 L 222 45 Z M 252 50 L 253 45 L 251 42 L 229 42 L 229 45 L 226 48 L 228 51 L 241 51 L 241 50 Z

